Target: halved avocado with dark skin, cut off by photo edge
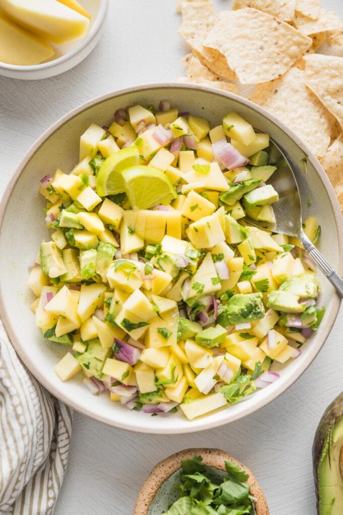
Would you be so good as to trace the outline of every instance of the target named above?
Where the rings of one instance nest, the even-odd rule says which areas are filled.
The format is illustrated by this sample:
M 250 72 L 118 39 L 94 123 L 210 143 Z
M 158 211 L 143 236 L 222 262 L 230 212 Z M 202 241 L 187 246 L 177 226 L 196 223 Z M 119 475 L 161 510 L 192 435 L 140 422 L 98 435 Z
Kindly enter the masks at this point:
M 343 392 L 318 424 L 312 448 L 318 515 L 343 513 Z

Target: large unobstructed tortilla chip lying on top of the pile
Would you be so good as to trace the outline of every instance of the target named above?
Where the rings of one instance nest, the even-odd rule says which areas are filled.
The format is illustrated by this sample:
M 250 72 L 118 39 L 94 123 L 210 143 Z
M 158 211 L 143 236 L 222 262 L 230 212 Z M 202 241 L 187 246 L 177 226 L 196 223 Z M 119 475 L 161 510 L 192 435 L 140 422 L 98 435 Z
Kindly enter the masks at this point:
M 312 45 L 291 25 L 245 7 L 221 12 L 204 45 L 219 50 L 242 84 L 284 74 Z

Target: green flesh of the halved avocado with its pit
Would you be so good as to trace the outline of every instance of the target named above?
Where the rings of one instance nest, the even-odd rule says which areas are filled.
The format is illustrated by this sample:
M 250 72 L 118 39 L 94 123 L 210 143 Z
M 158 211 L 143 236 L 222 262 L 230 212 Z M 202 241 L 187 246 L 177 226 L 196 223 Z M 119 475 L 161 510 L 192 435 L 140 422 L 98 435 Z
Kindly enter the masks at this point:
M 343 446 L 343 416 L 329 432 L 317 469 L 319 514 L 342 515 L 343 480 L 339 458 Z

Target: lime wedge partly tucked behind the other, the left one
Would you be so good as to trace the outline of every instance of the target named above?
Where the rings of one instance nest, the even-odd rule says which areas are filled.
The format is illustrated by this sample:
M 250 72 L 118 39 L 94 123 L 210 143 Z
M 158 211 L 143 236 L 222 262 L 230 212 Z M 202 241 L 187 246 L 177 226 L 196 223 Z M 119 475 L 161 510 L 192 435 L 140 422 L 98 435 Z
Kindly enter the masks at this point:
M 97 175 L 97 194 L 100 197 L 115 195 L 125 191 L 121 170 L 139 163 L 139 151 L 136 146 L 122 148 L 109 156 L 102 163 Z

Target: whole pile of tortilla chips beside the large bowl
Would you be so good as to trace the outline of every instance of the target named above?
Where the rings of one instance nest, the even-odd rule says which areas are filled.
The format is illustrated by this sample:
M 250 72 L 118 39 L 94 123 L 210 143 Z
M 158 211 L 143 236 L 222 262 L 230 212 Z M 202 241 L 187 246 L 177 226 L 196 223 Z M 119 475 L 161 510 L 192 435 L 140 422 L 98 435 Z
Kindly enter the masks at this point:
M 326 170 L 343 210 L 343 22 L 320 0 L 179 0 L 187 77 L 240 94 L 296 132 Z M 316 53 L 325 44 L 324 55 Z M 328 54 L 328 52 L 326 52 Z

